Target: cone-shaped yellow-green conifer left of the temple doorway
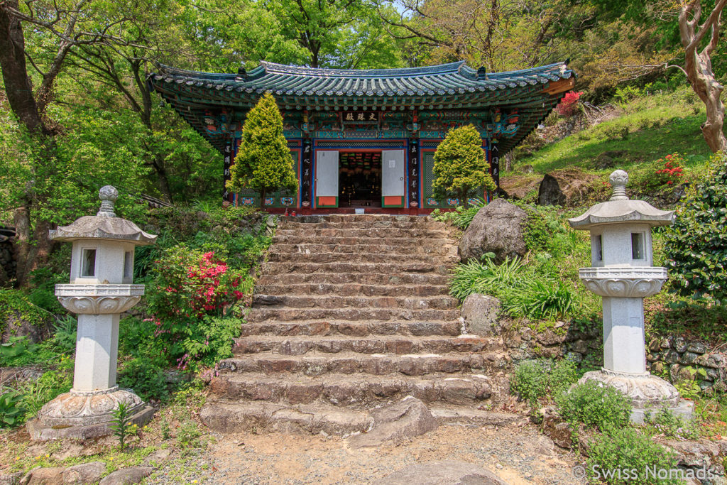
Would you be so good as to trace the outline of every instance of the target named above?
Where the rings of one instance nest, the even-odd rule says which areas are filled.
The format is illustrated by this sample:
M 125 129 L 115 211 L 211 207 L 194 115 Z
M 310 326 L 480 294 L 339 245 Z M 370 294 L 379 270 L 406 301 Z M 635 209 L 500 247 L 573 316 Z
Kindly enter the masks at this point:
M 247 113 L 228 188 L 235 192 L 242 188 L 256 191 L 262 209 L 267 193 L 297 186 L 293 159 L 283 136 L 283 116 L 273 95 L 266 92 Z

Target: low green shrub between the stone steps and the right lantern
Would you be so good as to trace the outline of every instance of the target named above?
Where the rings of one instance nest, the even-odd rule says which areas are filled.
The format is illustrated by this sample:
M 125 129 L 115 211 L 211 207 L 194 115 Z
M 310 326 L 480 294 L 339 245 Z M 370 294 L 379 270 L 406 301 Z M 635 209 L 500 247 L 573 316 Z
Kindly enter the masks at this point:
M 531 407 L 536 407 L 540 398 L 558 396 L 577 380 L 576 364 L 572 361 L 524 361 L 515 366 L 510 390 L 523 401 L 528 401 Z

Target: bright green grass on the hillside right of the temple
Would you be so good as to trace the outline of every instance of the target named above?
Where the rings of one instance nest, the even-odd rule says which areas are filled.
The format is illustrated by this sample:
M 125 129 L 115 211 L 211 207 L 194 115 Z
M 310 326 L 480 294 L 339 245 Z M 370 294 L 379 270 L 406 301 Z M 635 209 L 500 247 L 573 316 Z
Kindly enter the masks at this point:
M 541 174 L 581 167 L 587 172 L 608 175 L 613 169 L 596 169 L 594 165 L 595 159 L 606 151 L 625 152 L 614 160 L 617 167 L 626 170 L 638 170 L 643 162 L 678 152 L 686 154 L 688 175 L 701 172 L 711 153 L 699 129 L 704 122 L 704 105 L 691 89 L 681 87 L 662 95 L 637 97 L 619 104 L 619 109 L 622 116 L 518 158 L 515 167 L 529 164 Z

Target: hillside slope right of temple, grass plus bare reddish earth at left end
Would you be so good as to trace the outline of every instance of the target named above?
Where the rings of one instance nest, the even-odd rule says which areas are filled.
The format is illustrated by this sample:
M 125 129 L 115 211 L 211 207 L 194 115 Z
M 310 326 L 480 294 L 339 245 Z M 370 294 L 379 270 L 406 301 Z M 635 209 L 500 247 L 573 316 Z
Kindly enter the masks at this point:
M 505 190 L 516 190 L 520 198 L 530 199 L 537 195 L 543 175 L 574 168 L 603 180 L 614 169 L 624 169 L 636 184 L 663 168 L 664 157 L 671 153 L 683 156 L 686 180 L 702 175 L 711 153 L 699 129 L 705 117 L 704 105 L 690 88 L 643 92 L 616 103 L 612 111 L 614 117 L 608 121 L 553 143 L 542 140 L 547 130 L 534 132 L 516 149 L 513 170 L 502 173 Z M 553 113 L 546 124 L 565 122 Z

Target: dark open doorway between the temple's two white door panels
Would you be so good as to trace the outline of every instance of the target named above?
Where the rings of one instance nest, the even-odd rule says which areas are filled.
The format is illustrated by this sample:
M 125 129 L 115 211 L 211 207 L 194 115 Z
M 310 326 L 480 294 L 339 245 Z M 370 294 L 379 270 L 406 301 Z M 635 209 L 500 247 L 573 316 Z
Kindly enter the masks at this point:
M 381 207 L 381 151 L 339 152 L 340 207 Z

